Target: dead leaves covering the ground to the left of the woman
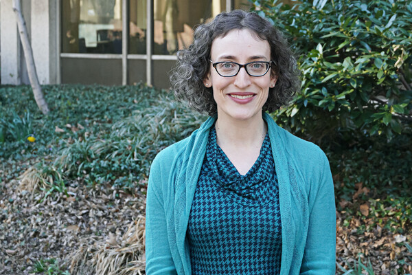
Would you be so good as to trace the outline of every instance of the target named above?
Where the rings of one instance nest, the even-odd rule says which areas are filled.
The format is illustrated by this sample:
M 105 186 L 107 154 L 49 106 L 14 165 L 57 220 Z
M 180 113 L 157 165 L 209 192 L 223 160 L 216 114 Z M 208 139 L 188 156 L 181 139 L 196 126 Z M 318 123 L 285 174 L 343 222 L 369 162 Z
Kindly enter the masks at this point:
M 41 177 L 32 169 L 25 177 L 0 186 L 0 274 L 22 274 L 21 270 L 29 274 L 36 261 L 45 259 L 56 259 L 70 267 L 73 258 L 69 255 L 79 248 L 114 248 L 114 243 L 106 243 L 113 235 L 118 245 L 122 245 L 122 240 L 131 234 L 130 225 L 135 225 L 137 217 L 144 214 L 143 195 L 135 192 L 136 196 L 131 196 L 120 190 L 118 195 L 113 195 L 107 186 L 87 188 L 71 182 L 67 195 L 54 193 L 43 199 L 45 189 L 39 185 L 41 181 L 37 176 Z M 141 223 L 139 226 L 141 232 Z M 124 256 L 130 261 L 122 263 L 144 259 L 143 243 L 133 248 L 135 250 L 119 253 L 126 256 L 131 253 L 138 256 L 137 259 Z M 139 274 L 133 272 L 144 270 L 141 263 L 136 267 L 124 274 Z M 104 274 L 96 273 L 95 268 L 84 265 L 78 274 Z

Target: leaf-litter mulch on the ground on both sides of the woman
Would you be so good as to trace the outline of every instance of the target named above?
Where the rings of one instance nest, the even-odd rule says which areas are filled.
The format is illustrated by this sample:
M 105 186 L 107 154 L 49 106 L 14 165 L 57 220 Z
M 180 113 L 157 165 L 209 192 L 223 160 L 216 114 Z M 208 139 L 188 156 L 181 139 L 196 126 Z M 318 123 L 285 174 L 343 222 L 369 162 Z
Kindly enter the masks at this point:
M 45 198 L 46 186 L 30 175 L 0 183 L 0 274 L 30 274 L 46 259 L 70 274 L 144 274 L 146 190 L 130 195 L 72 181 L 67 195 Z M 370 219 L 353 217 L 344 226 L 347 213 L 336 214 L 336 263 L 350 270 L 360 259 L 375 274 L 412 273 L 412 254 L 402 245 L 411 243 L 410 233 L 378 225 L 360 232 Z

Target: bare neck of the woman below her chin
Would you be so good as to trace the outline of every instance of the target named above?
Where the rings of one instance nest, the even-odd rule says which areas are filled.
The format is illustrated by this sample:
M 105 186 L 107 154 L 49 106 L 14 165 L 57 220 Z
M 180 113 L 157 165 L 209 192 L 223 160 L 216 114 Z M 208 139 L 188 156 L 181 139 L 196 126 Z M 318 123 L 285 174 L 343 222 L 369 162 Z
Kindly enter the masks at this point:
M 260 148 L 267 131 L 262 113 L 249 120 L 236 120 L 227 117 L 223 119 L 218 116 L 215 127 L 216 141 L 220 148 Z

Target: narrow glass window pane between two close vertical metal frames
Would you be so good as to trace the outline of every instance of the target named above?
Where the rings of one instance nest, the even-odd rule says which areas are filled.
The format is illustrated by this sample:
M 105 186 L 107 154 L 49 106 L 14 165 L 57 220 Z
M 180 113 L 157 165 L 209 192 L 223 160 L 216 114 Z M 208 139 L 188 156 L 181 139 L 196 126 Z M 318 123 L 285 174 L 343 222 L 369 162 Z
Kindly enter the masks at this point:
M 146 54 L 147 0 L 129 2 L 129 54 Z

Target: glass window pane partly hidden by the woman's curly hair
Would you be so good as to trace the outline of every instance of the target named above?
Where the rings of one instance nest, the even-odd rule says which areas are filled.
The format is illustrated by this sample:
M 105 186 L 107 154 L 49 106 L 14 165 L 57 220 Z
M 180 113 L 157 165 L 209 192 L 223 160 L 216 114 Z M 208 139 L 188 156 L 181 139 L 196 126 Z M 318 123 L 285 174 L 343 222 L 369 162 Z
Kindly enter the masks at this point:
M 196 25 L 226 8 L 225 0 L 154 0 L 153 54 L 175 54 L 192 43 Z

